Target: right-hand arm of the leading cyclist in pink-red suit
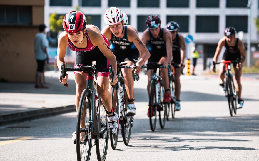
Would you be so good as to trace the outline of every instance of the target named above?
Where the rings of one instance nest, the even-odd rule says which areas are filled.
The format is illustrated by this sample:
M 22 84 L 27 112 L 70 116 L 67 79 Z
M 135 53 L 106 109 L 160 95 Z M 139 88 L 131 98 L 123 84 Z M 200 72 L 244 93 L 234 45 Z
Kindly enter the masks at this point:
M 98 31 L 89 30 L 88 33 L 89 33 L 89 36 L 91 37 L 91 42 L 93 43 L 93 45 L 98 46 L 98 48 L 103 53 L 103 55 L 109 59 L 109 63 L 112 65 L 112 68 L 114 69 L 114 76 L 116 76 L 117 75 L 116 57 L 111 51 L 109 45 L 105 42 L 104 37 Z

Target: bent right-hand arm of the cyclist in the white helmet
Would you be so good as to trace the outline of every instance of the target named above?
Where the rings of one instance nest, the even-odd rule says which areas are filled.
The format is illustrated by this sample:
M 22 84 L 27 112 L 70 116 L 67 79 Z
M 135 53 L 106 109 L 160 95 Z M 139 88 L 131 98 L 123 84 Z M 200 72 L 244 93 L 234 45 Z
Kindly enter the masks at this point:
M 135 46 L 139 51 L 139 59 L 136 65 L 137 66 L 143 65 L 146 62 L 146 60 L 148 60 L 148 58 L 150 57 L 150 53 L 146 48 L 146 45 L 141 41 L 141 39 L 138 36 L 138 33 L 136 33 L 136 31 L 132 27 L 128 27 L 127 36 L 128 36 L 128 40 L 133 41 L 133 43 L 135 44 Z M 141 68 L 139 72 L 140 71 L 141 71 Z

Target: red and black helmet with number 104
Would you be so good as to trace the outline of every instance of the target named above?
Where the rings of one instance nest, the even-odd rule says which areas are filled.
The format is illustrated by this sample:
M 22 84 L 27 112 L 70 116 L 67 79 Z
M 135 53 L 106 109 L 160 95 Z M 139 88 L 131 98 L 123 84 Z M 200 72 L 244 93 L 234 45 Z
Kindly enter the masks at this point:
M 78 33 L 86 27 L 86 16 L 80 11 L 71 11 L 63 19 L 63 28 L 67 33 Z

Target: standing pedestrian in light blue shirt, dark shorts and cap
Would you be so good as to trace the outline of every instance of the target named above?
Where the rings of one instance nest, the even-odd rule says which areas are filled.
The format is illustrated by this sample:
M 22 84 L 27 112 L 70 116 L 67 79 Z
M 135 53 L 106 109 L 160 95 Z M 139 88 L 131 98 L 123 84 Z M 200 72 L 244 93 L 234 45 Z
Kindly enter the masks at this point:
M 48 40 L 45 35 L 45 28 L 47 26 L 45 24 L 39 25 L 39 33 L 36 34 L 34 38 L 34 52 L 35 59 L 37 61 L 37 71 L 36 71 L 36 83 L 35 88 L 49 88 L 44 85 L 44 66 L 46 61 L 49 62 L 48 56 Z

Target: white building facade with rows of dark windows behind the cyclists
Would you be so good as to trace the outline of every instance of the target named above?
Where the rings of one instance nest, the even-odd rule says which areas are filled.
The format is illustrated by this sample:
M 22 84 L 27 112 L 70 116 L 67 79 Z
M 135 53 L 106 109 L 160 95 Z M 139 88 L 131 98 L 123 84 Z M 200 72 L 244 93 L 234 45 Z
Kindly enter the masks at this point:
M 105 26 L 103 14 L 109 7 L 116 6 L 128 15 L 129 24 L 137 28 L 141 36 L 146 29 L 147 16 L 158 14 L 162 27 L 169 21 L 178 22 L 180 33 L 184 36 L 192 35 L 205 57 L 212 57 L 219 39 L 224 36 L 224 30 L 228 26 L 234 26 L 237 31 L 244 32 L 243 42 L 246 46 L 247 3 L 248 0 L 45 0 L 44 22 L 49 24 L 48 17 L 53 12 L 66 14 L 79 6 L 86 16 L 91 16 L 90 23 L 101 30 Z M 258 48 L 258 34 L 253 21 L 258 16 L 258 5 L 258 0 L 252 0 L 252 53 Z

